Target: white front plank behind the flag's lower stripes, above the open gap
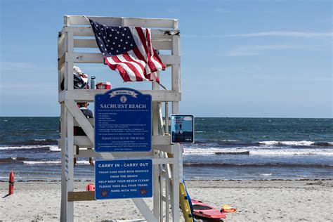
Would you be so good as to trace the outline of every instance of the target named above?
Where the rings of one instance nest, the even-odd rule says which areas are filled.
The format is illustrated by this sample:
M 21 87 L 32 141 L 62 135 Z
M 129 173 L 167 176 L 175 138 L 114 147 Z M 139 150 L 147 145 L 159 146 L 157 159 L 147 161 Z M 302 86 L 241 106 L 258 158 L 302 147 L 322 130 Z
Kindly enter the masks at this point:
M 166 65 L 179 65 L 181 55 L 159 55 Z M 102 53 L 65 53 L 66 62 L 74 63 L 104 63 Z

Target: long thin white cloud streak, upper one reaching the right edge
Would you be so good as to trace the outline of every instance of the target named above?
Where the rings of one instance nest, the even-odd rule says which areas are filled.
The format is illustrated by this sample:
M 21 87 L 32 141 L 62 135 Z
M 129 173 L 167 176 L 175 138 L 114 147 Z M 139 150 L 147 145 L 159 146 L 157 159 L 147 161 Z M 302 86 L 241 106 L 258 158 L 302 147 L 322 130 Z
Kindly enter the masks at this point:
M 214 36 L 216 37 L 216 36 Z M 221 36 L 220 36 L 221 37 Z M 333 37 L 333 32 L 249 32 L 244 34 L 226 34 L 224 37 Z

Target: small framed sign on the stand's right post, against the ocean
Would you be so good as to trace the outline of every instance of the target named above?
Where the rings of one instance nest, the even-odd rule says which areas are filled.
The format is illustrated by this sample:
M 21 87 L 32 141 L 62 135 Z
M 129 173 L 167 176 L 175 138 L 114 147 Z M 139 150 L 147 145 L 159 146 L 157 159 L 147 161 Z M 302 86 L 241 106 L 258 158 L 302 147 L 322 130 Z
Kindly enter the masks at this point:
M 194 143 L 192 115 L 171 115 L 171 143 Z

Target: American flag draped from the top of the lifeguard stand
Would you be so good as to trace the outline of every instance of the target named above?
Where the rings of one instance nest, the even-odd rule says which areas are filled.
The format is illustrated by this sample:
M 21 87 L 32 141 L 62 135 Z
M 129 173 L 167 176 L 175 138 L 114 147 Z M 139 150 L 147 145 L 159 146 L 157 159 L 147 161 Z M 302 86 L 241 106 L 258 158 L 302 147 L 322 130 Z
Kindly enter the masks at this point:
M 89 19 L 96 43 L 107 65 L 117 70 L 124 81 L 157 81 L 156 72 L 165 65 L 152 48 L 150 29 L 113 27 Z

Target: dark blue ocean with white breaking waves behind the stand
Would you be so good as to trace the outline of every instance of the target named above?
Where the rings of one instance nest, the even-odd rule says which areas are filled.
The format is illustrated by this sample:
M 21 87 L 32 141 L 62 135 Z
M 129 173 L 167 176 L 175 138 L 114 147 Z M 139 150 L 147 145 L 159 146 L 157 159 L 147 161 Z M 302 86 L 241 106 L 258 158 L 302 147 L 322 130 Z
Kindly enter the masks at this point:
M 58 117 L 0 117 L 0 181 L 60 180 Z M 333 119 L 195 118 L 183 145 L 183 174 L 194 180 L 333 178 Z M 78 180 L 93 180 L 78 159 Z

